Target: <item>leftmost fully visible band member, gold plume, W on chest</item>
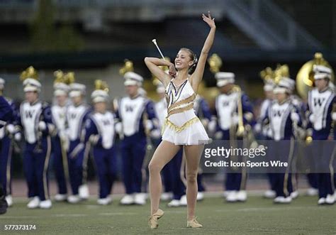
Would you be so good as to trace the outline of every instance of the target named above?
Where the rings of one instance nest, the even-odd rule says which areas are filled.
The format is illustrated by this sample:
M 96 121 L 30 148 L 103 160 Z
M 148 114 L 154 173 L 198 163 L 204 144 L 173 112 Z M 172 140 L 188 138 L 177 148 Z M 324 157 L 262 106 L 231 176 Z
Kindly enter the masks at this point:
M 23 128 L 26 146 L 23 153 L 23 166 L 28 184 L 27 204 L 29 209 L 52 207 L 48 189 L 48 163 L 51 152 L 50 133 L 52 125 L 51 110 L 47 103 L 40 101 L 41 84 L 33 67 L 21 74 L 26 100 L 20 106 L 18 126 Z

